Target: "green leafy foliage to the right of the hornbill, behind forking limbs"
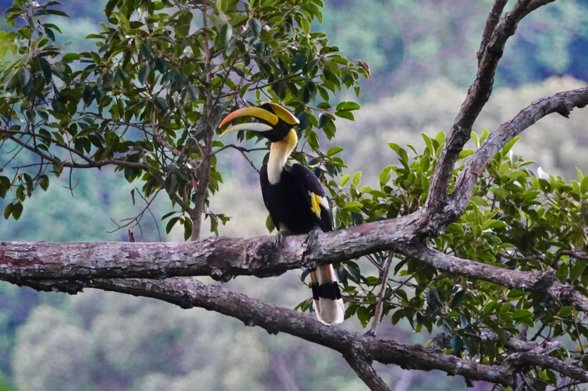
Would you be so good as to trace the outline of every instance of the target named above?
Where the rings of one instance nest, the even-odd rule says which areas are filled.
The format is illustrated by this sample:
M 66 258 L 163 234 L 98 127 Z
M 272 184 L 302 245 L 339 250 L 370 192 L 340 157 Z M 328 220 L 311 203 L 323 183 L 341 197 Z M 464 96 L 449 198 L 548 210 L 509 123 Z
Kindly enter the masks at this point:
M 482 135 L 472 133 L 476 147 L 488 134 L 486 130 Z M 361 172 L 345 175 L 339 183 L 328 182 L 336 205 L 336 226 L 390 219 L 423 206 L 445 134 L 422 137 L 426 147 L 420 154 L 410 145 L 406 151 L 389 144 L 400 165 L 382 169 L 379 188 L 362 186 Z M 447 254 L 493 266 L 556 270 L 560 283 L 588 294 L 588 177 L 578 169 L 577 181 L 548 174 L 539 178 L 527 169 L 532 162 L 511 151 L 517 139 L 508 142 L 480 175 L 464 215 L 431 244 Z M 465 149 L 460 159 L 472 153 Z M 461 170 L 457 168 L 455 174 Z M 383 270 L 391 257 L 392 275 L 387 278 Z M 377 293 L 385 281 L 382 315 L 390 315 L 392 324 L 406 319 L 415 331 L 425 328 L 444 334 L 448 354 L 499 363 L 509 355 L 506 343 L 510 337 L 528 331 L 529 339 L 537 342 L 570 341 L 551 355 L 588 368 L 582 342 L 588 338 L 588 328 L 572 307 L 556 304 L 542 293 L 509 290 L 443 273 L 397 254 L 376 253 L 368 259 L 379 272 L 375 276 L 359 266 L 365 263 L 347 262 L 338 271 L 349 303 L 346 318 L 358 317 L 363 327 L 373 321 Z M 305 310 L 309 305 L 306 301 L 299 307 Z M 556 375 L 549 370 L 529 376 L 535 389 L 557 384 Z

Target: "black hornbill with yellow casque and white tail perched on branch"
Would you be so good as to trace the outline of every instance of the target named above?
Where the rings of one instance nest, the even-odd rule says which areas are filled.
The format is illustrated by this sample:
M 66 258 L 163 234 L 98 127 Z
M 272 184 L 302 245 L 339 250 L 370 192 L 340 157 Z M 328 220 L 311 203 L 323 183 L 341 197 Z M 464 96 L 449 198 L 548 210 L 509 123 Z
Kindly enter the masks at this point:
M 278 229 L 278 240 L 287 234 L 308 234 L 315 230 L 333 230 L 329 203 L 319 179 L 301 164 L 286 165 L 296 148 L 299 123 L 288 110 L 276 103 L 245 107 L 227 115 L 219 127 L 236 117 L 259 118 L 259 123 L 234 125 L 221 135 L 238 130 L 258 131 L 272 142 L 268 164 L 259 172 L 263 202 Z M 335 269 L 324 265 L 310 273 L 312 296 L 319 320 L 325 324 L 343 321 L 344 307 Z

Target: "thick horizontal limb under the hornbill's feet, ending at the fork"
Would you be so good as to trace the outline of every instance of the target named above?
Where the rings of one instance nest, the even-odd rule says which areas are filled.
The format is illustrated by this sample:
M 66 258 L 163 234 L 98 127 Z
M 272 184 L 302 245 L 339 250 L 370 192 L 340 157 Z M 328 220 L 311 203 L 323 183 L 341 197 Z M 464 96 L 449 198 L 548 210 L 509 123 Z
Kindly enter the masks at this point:
M 208 237 L 189 243 L 0 242 L 0 280 L 278 276 L 316 264 L 349 260 L 415 236 L 411 216 L 319 233 L 312 247 L 305 236 L 289 236 L 275 249 L 273 236 Z

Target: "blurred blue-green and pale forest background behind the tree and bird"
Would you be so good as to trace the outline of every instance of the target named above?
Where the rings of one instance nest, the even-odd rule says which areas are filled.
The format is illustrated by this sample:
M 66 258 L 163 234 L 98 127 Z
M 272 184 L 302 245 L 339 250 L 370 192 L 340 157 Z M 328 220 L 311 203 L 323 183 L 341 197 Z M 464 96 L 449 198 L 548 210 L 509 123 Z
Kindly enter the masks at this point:
M 0 9 L 11 5 L 0 0 Z M 72 17 L 56 22 L 71 42 L 69 51 L 91 49 L 83 38 L 100 30 L 106 0 L 68 1 Z M 449 131 L 475 78 L 476 52 L 490 0 L 326 0 L 323 25 L 350 59 L 365 60 L 372 79 L 362 81 L 355 122 L 338 120 L 326 148 L 340 145 L 348 173 L 363 171 L 362 183 L 376 184 L 383 166 L 394 164 L 386 142 L 412 144 L 419 132 Z M 4 22 L 4 21 L 2 21 Z M 8 28 L 0 22 L 0 29 Z M 495 92 L 475 125 L 493 131 L 540 97 L 575 89 L 588 81 L 588 1 L 559 0 L 520 23 L 497 70 Z M 355 97 L 341 96 L 341 100 Z M 575 178 L 575 166 L 588 172 L 588 110 L 569 120 L 544 118 L 523 133 L 515 153 L 544 171 Z M 24 155 L 22 155 L 24 156 Z M 259 160 L 262 155 L 259 155 Z M 1 161 L 2 157 L 0 157 Z M 219 156 L 225 183 L 212 208 L 232 220 L 219 227 L 227 236 L 267 234 L 267 213 L 258 178 L 240 154 Z M 57 181 L 57 179 L 54 179 Z M 133 206 L 133 185 L 104 169 L 79 172 L 73 196 L 67 175 L 27 202 L 17 222 L 0 220 L 0 240 L 94 242 L 128 240 L 115 223 L 142 209 Z M 0 200 L 0 210 L 4 209 Z M 152 208 L 138 240 L 181 241 L 179 230 L 165 235 L 161 216 L 169 201 Z M 112 220 L 111 220 L 112 219 Z M 158 234 L 159 225 L 161 239 Z M 205 222 L 205 225 L 208 221 Z M 208 230 L 204 227 L 203 232 Z M 255 280 L 240 277 L 228 285 L 256 298 L 293 308 L 310 295 L 298 271 Z M 361 331 L 352 321 L 346 327 Z M 380 336 L 425 343 L 409 325 L 385 319 Z M 465 389 L 462 378 L 377 365 L 396 390 Z M 201 309 L 181 310 L 146 298 L 86 290 L 69 296 L 37 293 L 0 282 L 0 391 L 188 391 L 188 390 L 363 390 L 365 385 L 339 353 L 292 336 L 268 335 L 235 319 Z M 478 383 L 477 390 L 489 390 Z

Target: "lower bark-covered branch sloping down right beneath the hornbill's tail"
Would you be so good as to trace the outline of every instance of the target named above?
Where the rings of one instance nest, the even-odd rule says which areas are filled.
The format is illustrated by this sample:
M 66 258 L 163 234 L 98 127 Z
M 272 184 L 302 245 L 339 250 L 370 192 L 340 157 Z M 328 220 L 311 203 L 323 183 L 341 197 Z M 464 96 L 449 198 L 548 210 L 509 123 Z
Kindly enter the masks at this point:
M 61 289 L 60 281 L 38 281 L 36 289 Z M 285 332 L 306 341 L 338 351 L 351 360 L 350 365 L 368 385 L 386 390 L 385 384 L 370 371 L 369 361 L 399 365 L 404 369 L 443 370 L 450 375 L 461 375 L 470 380 L 485 380 L 505 386 L 511 385 L 513 373 L 530 365 L 561 370 L 574 380 L 588 378 L 588 373 L 565 362 L 544 356 L 534 351 L 515 353 L 501 365 L 482 365 L 476 361 L 446 355 L 440 350 L 421 345 L 407 345 L 390 339 L 379 339 L 359 334 L 338 325 L 326 326 L 316 317 L 303 314 L 275 304 L 234 293 L 218 285 L 206 284 L 192 278 L 168 278 L 166 280 L 94 280 L 89 287 L 107 291 L 152 297 L 171 302 L 182 308 L 201 307 L 240 319 L 245 325 L 259 326 L 270 334 Z M 74 285 L 69 292 L 79 290 Z M 364 379 L 365 378 L 365 379 Z M 379 380 L 378 380 L 379 379 Z

